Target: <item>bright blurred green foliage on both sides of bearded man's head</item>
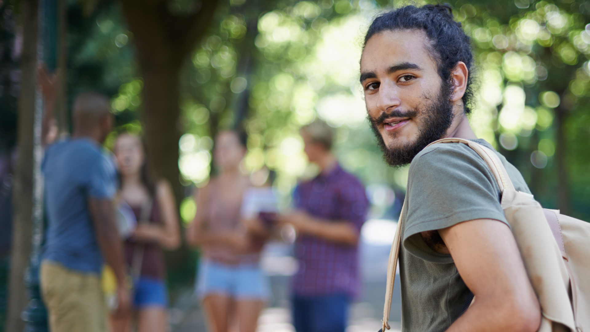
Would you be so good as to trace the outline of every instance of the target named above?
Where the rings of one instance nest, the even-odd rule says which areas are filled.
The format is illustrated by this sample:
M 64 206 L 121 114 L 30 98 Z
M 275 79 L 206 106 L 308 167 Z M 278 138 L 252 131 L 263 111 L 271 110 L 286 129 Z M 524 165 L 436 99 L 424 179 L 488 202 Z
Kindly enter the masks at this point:
M 246 7 L 258 8 L 255 28 L 254 15 L 244 15 Z M 477 58 L 478 93 L 470 118 L 477 135 L 523 172 L 538 200 L 556 207 L 555 149 L 563 122 L 566 185 L 575 213 L 590 217 L 584 207 L 590 199 L 589 154 L 584 153 L 590 144 L 585 125 L 590 5 L 460 0 L 453 7 L 473 38 Z M 337 128 L 336 152 L 345 168 L 366 184 L 405 187 L 407 169 L 394 170 L 381 161 L 356 83 L 363 31 L 387 8 L 386 3 L 347 0 L 221 6 L 183 76 L 183 124 L 192 135 L 181 140 L 189 142 L 181 146 L 185 178 L 207 183 L 211 154 L 190 142 L 209 141 L 219 129 L 236 125 L 244 102 L 238 96 L 247 83 L 249 111 L 242 126 L 250 139 L 244 168 L 277 171 L 275 185 L 285 197 L 297 179 L 313 174 L 298 129 L 317 116 Z M 254 49 L 243 45 L 251 30 Z M 244 73 L 239 64 L 247 56 L 254 66 Z

